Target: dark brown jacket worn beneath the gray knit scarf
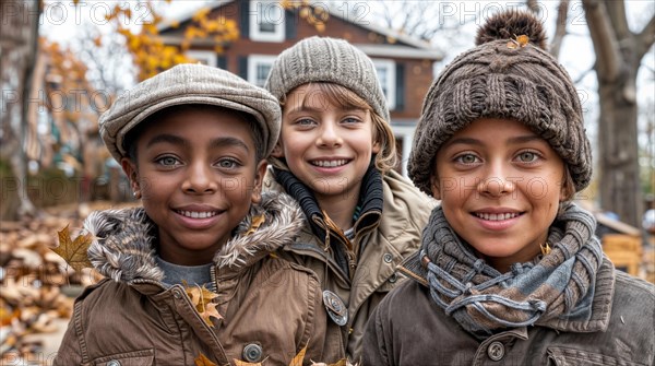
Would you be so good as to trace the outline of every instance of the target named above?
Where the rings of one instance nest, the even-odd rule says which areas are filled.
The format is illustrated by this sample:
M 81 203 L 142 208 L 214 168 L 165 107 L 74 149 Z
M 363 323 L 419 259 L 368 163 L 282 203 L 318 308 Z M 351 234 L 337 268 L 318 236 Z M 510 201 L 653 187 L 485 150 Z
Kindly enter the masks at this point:
M 384 365 L 655 365 L 655 287 L 598 270 L 593 314 L 563 330 L 520 327 L 479 341 L 430 297 L 425 279 L 391 293 L 371 316 L 362 366 Z

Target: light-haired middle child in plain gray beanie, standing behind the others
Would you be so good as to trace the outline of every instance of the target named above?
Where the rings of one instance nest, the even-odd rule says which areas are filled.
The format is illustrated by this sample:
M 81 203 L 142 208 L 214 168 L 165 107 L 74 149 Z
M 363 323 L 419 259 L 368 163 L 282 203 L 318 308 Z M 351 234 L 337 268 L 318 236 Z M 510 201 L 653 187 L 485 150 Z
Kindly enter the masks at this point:
M 357 362 L 368 315 L 401 283 L 395 267 L 418 248 L 433 202 L 393 169 L 389 109 L 361 50 L 303 39 L 279 55 L 265 87 L 283 115 L 264 190 L 287 192 L 307 217 L 285 251 L 321 280 L 324 361 Z

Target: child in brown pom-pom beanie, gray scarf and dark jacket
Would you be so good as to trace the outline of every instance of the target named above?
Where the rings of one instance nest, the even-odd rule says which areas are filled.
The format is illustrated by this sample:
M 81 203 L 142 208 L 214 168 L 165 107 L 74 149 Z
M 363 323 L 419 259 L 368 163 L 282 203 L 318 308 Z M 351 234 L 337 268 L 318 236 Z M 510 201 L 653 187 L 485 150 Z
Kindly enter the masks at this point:
M 655 365 L 655 287 L 571 201 L 590 142 L 544 39 L 528 13 L 492 16 L 428 92 L 409 176 L 441 205 L 370 317 L 366 365 Z

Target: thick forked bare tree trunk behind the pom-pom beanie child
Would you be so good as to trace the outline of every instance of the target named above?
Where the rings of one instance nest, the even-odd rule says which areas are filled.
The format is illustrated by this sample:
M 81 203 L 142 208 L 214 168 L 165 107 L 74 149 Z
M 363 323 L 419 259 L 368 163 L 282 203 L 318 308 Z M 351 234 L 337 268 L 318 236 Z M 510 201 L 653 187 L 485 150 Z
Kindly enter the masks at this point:
M 623 0 L 582 1 L 596 50 L 600 203 L 634 226 L 643 212 L 639 173 L 636 74 L 655 42 L 655 15 L 638 33 Z

